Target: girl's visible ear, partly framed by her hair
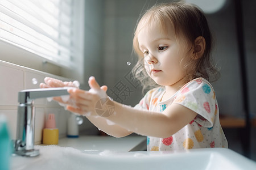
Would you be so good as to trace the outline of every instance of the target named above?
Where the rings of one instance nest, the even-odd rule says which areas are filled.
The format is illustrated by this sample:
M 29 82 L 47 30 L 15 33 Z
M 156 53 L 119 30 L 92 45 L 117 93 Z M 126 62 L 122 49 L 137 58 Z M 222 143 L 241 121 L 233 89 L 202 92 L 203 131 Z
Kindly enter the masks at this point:
M 205 39 L 202 36 L 199 36 L 195 39 L 193 46 L 193 59 L 199 59 L 203 56 L 205 50 Z

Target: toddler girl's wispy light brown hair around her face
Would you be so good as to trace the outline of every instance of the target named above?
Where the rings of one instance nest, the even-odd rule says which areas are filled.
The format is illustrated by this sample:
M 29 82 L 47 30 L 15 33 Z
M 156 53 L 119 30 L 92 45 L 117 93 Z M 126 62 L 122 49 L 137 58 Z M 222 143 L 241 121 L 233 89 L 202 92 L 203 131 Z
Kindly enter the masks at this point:
M 196 46 L 195 39 L 199 36 L 205 39 L 205 50 L 199 59 L 191 59 L 184 67 L 187 74 L 186 80 L 203 77 L 210 82 L 219 78 L 219 72 L 213 65 L 212 33 L 208 27 L 207 19 L 200 8 L 188 3 L 163 3 L 155 5 L 147 10 L 139 20 L 134 33 L 133 49 L 138 54 L 138 62 L 133 68 L 134 76 L 142 83 L 143 90 L 157 86 L 157 84 L 147 75 L 144 69 L 143 53 L 139 49 L 138 33 L 143 28 L 150 29 L 154 25 L 159 25 L 164 33 L 168 32 L 168 27 L 174 28 L 177 42 L 183 38 L 191 49 Z

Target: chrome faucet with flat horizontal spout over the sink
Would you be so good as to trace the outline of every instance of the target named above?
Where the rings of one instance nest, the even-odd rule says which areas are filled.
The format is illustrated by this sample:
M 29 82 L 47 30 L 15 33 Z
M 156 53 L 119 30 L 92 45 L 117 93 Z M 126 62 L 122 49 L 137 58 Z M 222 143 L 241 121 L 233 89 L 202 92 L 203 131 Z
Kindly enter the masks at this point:
M 69 95 L 68 88 L 38 88 L 19 91 L 18 119 L 14 154 L 21 156 L 38 156 L 34 149 L 35 108 L 34 100 L 45 97 Z

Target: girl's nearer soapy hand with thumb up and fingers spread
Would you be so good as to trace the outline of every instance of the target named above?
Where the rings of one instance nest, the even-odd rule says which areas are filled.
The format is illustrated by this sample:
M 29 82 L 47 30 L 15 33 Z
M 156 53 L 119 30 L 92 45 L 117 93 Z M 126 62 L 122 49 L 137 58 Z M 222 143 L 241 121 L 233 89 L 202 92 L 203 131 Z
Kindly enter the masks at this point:
M 89 91 L 84 91 L 76 88 L 68 90 L 72 99 L 75 100 L 76 107 L 68 105 L 67 109 L 71 112 L 79 113 L 84 116 L 98 116 L 98 114 L 96 113 L 96 103 L 100 99 L 108 97 L 106 95 L 106 90 L 108 89 L 108 87 L 100 87 L 93 76 L 89 78 L 88 83 L 90 86 Z

